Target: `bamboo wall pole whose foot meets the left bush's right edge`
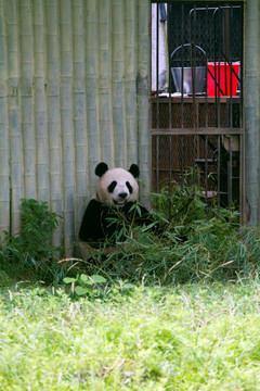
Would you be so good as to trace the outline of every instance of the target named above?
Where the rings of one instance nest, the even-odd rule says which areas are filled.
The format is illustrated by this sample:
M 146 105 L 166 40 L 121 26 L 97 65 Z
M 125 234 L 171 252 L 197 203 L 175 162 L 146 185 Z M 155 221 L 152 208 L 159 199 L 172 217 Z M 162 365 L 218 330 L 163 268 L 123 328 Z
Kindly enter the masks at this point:
M 47 21 L 47 91 L 49 130 L 50 200 L 53 212 L 63 214 L 62 194 L 62 142 L 60 118 L 60 42 L 57 0 L 46 0 Z M 53 234 L 53 243 L 61 244 L 62 227 Z

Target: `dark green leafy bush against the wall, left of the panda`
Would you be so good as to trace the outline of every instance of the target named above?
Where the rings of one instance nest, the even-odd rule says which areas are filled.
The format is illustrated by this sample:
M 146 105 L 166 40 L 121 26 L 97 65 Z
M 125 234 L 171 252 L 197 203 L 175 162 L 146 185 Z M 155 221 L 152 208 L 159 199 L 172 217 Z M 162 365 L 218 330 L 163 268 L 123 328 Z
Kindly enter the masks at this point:
M 47 202 L 32 199 L 23 199 L 21 209 L 20 231 L 16 235 L 5 232 L 0 257 L 20 272 L 53 278 L 61 248 L 53 245 L 51 239 L 60 216 L 48 210 Z

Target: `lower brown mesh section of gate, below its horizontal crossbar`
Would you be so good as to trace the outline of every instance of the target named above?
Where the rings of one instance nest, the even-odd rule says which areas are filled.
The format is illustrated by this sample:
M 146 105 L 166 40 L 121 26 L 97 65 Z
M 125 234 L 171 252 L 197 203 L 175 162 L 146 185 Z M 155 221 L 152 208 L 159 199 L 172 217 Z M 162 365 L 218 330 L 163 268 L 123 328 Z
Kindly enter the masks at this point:
M 191 175 L 206 199 L 221 206 L 239 206 L 240 163 L 238 136 L 158 135 L 152 137 L 153 188 L 181 184 Z M 230 149 L 232 143 L 232 150 Z

